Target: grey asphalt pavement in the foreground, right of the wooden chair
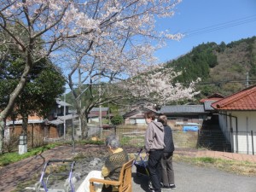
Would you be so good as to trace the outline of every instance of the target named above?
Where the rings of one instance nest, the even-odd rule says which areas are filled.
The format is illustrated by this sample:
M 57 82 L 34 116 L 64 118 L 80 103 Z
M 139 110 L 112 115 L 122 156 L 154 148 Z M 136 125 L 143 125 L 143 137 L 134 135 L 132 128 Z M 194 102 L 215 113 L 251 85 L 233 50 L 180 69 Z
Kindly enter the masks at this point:
M 256 177 L 238 176 L 212 167 L 181 162 L 175 162 L 173 166 L 177 189 L 163 192 L 256 192 Z M 133 191 L 148 192 L 148 177 L 137 177 L 133 173 L 133 182 Z

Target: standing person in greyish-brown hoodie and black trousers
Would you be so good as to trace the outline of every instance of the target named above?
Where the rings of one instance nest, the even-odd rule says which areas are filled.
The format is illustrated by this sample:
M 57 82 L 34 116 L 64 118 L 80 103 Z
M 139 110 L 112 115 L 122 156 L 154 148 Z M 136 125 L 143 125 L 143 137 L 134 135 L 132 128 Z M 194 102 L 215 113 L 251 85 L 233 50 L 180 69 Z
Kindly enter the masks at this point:
M 161 164 L 164 143 L 164 126 L 160 122 L 155 122 L 154 113 L 145 113 L 148 128 L 145 134 L 145 149 L 148 154 L 148 171 L 152 183 L 151 191 L 160 192 Z

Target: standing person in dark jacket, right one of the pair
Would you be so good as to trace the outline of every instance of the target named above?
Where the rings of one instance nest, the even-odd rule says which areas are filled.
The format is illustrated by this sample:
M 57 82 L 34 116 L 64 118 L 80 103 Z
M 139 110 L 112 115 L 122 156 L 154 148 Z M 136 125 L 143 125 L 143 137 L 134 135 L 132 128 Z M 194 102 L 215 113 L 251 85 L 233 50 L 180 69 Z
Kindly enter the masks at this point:
M 172 139 L 172 129 L 167 125 L 167 117 L 166 115 L 160 115 L 159 122 L 161 122 L 165 127 L 165 145 L 164 154 L 161 159 L 162 166 L 162 189 L 175 189 L 176 186 L 174 184 L 174 172 L 172 167 L 172 155 L 174 151 L 174 144 Z

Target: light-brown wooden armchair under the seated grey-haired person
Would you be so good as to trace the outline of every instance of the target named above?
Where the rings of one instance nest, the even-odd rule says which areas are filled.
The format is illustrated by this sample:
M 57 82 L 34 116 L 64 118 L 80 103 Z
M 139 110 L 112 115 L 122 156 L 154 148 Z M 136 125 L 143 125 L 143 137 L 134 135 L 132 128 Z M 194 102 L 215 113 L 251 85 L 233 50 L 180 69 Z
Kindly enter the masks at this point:
M 129 160 L 122 166 L 118 181 L 90 178 L 90 192 L 96 192 L 94 188 L 94 183 L 103 183 L 116 186 L 118 187 L 119 192 L 132 192 L 131 167 L 133 165 L 133 161 L 134 159 Z

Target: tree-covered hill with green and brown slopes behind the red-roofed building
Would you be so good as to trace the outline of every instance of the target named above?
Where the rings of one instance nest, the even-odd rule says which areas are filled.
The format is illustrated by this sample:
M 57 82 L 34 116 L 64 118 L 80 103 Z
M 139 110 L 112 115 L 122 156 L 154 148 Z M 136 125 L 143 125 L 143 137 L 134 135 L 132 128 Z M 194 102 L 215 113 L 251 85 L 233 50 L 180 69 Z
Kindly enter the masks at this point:
M 256 84 L 256 37 L 230 44 L 200 44 L 177 60 L 166 62 L 166 67 L 182 71 L 176 80 L 183 84 L 200 77 L 199 99 L 216 92 L 229 96 L 245 88 L 247 82 Z

